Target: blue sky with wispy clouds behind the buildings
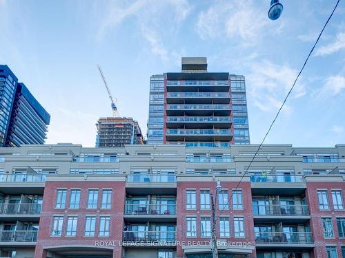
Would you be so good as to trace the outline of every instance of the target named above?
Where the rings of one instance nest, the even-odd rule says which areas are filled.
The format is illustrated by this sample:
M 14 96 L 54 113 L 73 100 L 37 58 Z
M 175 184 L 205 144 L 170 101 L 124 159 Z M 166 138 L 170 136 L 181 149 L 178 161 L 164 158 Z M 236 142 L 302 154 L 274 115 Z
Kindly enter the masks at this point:
M 0 0 L 0 63 L 50 113 L 47 144 L 94 147 L 112 116 L 101 65 L 121 116 L 146 135 L 150 75 L 206 56 L 209 72 L 246 77 L 250 142 L 259 144 L 336 0 Z M 265 144 L 345 144 L 345 1 L 299 78 Z

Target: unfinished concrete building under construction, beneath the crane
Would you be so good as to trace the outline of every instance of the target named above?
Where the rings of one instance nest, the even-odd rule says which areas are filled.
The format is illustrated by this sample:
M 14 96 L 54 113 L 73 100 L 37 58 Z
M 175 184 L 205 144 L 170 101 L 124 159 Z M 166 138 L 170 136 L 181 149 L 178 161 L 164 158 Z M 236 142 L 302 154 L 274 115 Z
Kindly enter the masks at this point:
M 99 118 L 96 126 L 96 147 L 123 147 L 144 142 L 139 124 L 133 118 Z

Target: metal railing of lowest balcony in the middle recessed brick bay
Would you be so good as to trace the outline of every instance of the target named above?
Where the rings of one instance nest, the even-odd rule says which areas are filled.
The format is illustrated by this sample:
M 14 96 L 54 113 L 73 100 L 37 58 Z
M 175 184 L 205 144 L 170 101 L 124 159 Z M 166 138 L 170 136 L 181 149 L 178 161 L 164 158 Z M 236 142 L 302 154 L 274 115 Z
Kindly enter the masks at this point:
M 176 231 L 124 231 L 124 241 L 172 243 L 176 240 Z

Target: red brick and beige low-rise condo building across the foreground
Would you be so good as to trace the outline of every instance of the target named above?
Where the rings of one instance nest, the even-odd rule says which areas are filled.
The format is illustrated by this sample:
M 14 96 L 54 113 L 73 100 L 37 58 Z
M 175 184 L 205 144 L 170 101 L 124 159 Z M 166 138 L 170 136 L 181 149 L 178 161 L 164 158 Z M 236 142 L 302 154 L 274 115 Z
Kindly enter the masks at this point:
M 257 147 L 0 148 L 0 257 L 344 257 L 345 145 Z

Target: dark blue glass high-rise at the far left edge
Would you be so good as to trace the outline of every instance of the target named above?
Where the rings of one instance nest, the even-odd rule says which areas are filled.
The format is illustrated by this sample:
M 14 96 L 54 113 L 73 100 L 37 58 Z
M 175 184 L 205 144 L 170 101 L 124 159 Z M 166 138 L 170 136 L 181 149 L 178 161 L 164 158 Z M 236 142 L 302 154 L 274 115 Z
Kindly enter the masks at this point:
M 0 146 L 43 144 L 50 115 L 7 65 L 0 65 Z

